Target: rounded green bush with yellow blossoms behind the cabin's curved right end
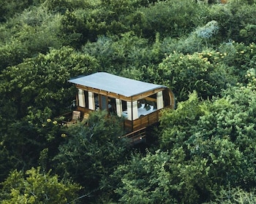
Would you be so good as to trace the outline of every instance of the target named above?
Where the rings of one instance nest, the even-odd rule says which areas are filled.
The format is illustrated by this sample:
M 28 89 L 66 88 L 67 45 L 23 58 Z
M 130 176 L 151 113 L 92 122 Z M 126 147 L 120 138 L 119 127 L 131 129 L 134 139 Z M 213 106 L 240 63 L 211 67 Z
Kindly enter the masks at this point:
M 202 98 L 219 95 L 227 83 L 234 84 L 235 77 L 229 77 L 228 70 L 221 63 L 226 54 L 216 51 L 195 52 L 192 55 L 173 52 L 158 68 L 147 68 L 144 77 L 151 82 L 171 87 L 178 101 L 187 99 L 193 90 Z

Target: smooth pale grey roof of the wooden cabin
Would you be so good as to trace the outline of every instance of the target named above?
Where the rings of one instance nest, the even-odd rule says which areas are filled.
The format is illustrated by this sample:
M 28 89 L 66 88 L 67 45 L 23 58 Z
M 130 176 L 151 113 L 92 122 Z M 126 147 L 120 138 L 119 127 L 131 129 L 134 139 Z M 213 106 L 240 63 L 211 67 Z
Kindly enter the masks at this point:
M 99 90 L 105 90 L 111 93 L 117 93 L 126 97 L 145 93 L 149 90 L 155 90 L 160 87 L 165 87 L 162 85 L 154 85 L 147 82 L 140 82 L 135 79 L 128 79 L 125 77 L 108 74 L 106 72 L 97 72 L 88 76 L 80 76 L 75 79 L 70 79 L 69 82 L 76 85 L 83 85 Z

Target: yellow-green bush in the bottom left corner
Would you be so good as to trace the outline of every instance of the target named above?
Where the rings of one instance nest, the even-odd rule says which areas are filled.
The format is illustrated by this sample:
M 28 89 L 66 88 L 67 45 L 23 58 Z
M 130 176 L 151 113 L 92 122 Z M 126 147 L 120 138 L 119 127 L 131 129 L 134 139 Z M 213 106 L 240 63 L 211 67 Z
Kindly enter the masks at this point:
M 59 181 L 40 168 L 26 173 L 14 170 L 1 184 L 1 203 L 69 203 L 78 196 L 80 187 L 70 181 Z

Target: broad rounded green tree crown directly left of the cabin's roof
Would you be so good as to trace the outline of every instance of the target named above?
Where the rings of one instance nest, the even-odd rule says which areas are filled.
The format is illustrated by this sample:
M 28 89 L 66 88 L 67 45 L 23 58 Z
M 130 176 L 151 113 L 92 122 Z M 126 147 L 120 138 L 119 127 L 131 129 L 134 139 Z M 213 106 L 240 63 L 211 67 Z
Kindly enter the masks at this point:
M 75 95 L 67 80 L 95 70 L 97 61 L 94 58 L 62 47 L 4 70 L 0 76 L 0 93 L 18 110 L 18 115 L 12 118 L 26 116 L 29 106 L 37 109 L 48 106 L 57 115 Z

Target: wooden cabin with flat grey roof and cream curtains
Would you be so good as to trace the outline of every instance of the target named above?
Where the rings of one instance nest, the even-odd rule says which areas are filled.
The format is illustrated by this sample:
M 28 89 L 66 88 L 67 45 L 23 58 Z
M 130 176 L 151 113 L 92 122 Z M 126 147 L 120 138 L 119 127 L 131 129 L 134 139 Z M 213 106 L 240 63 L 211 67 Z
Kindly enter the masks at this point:
M 159 121 L 161 110 L 174 109 L 173 92 L 166 86 L 140 82 L 106 72 L 70 79 L 78 88 L 77 112 L 107 110 L 124 117 L 124 129 L 132 141 L 146 136 L 146 127 Z

